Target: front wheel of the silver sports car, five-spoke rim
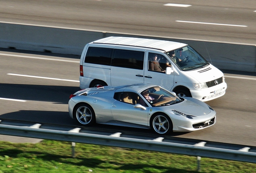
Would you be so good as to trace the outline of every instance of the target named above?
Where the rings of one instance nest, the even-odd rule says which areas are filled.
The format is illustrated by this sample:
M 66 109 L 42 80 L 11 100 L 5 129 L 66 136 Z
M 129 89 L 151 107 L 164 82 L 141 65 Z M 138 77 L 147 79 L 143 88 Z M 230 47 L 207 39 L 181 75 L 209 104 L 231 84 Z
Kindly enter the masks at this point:
M 158 134 L 167 135 L 172 132 L 171 119 L 165 114 L 157 114 L 152 117 L 151 128 Z

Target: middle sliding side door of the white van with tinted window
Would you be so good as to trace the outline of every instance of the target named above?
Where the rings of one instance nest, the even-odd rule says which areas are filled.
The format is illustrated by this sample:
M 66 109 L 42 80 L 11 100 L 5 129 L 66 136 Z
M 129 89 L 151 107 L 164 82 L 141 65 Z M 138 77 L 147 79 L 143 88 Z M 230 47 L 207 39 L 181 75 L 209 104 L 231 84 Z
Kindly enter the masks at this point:
M 145 50 L 115 47 L 111 61 L 111 85 L 144 82 Z

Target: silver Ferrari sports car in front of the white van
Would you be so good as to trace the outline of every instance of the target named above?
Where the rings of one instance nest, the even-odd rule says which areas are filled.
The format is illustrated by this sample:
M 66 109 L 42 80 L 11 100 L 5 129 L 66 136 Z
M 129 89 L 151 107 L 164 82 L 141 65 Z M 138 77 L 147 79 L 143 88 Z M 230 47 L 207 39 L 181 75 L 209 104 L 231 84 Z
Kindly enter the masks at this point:
M 70 95 L 68 111 L 85 126 L 101 123 L 151 128 L 159 134 L 200 130 L 216 122 L 216 112 L 206 103 L 178 98 L 152 84 L 84 89 Z

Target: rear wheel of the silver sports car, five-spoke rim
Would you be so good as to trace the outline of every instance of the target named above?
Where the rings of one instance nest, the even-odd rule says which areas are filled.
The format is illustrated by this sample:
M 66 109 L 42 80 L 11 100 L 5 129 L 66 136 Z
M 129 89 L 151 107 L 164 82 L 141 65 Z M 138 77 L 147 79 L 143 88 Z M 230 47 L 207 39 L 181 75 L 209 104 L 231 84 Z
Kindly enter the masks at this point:
M 95 113 L 92 107 L 86 103 L 77 105 L 74 109 L 73 116 L 82 125 L 90 126 L 95 124 Z

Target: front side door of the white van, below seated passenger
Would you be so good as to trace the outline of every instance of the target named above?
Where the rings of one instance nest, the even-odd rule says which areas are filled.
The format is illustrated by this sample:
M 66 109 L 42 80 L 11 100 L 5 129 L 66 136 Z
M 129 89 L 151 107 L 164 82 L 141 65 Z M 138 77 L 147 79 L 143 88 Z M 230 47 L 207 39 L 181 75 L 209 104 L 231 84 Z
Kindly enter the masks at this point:
M 172 66 L 172 62 L 168 61 L 163 54 L 159 54 L 157 52 L 147 51 L 146 56 L 148 58 L 146 58 L 147 62 L 145 62 L 144 66 L 144 83 L 160 85 L 161 87 L 171 91 L 171 88 L 173 87 L 174 73 L 165 74 L 163 70 L 165 70 L 165 68 L 167 67 L 167 62 L 169 62 L 169 66 Z M 152 62 L 152 58 L 154 58 L 153 56 L 157 56 L 157 61 L 159 62 L 159 64 Z M 156 68 L 160 66 L 161 71 L 156 71 L 155 69 L 153 69 L 152 66 L 155 66 Z

